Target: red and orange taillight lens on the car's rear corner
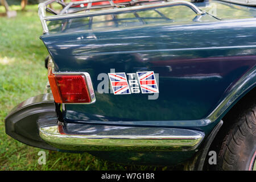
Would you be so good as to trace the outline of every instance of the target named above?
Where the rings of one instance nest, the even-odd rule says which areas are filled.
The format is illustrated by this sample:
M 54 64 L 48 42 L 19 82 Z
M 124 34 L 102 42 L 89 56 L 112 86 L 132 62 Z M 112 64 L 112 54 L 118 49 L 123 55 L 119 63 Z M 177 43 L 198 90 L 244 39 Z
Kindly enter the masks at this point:
M 57 103 L 90 103 L 91 94 L 84 75 L 53 74 L 48 72 L 53 98 Z

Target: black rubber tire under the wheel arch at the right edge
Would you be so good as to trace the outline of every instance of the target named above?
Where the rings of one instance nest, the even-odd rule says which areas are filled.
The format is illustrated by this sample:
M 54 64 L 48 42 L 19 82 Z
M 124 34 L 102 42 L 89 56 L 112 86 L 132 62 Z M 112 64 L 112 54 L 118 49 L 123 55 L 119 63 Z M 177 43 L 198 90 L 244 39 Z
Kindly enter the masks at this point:
M 247 104 L 251 103 L 247 102 Z M 217 152 L 217 164 L 210 165 L 209 169 L 250 170 L 249 167 L 256 150 L 256 104 L 255 102 L 251 106 L 243 104 L 233 112 L 237 113 L 229 115 L 225 118 L 226 121 L 224 120 L 224 123 L 232 122 L 233 124 L 222 130 L 222 134 L 215 139 L 216 141 L 210 149 Z

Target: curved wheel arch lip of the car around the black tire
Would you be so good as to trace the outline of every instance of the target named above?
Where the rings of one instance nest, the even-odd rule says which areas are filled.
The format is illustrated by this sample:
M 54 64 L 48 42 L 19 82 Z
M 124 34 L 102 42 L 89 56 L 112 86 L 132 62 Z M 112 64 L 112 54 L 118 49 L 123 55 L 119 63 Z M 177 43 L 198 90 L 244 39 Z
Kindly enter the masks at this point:
M 233 102 L 226 107 L 220 117 L 216 121 L 214 129 L 209 133 L 208 137 L 204 140 L 203 144 L 200 147 L 199 152 L 194 156 L 194 158 L 185 164 L 184 169 L 187 170 L 202 170 L 207 169 L 208 165 L 205 165 L 208 162 L 208 152 L 214 149 L 216 144 L 221 142 L 221 139 L 225 137 L 226 131 L 233 125 L 232 122 L 228 122 L 231 117 L 237 117 L 237 114 L 240 114 L 238 110 L 241 108 L 246 109 L 246 105 L 256 102 L 256 69 L 253 70 L 254 73 L 249 77 L 244 78 L 242 81 L 242 86 L 238 87 L 236 92 L 237 94 L 242 91 L 242 93 L 233 100 Z M 248 104 L 249 103 L 249 104 Z M 236 113 L 235 115 L 233 113 Z

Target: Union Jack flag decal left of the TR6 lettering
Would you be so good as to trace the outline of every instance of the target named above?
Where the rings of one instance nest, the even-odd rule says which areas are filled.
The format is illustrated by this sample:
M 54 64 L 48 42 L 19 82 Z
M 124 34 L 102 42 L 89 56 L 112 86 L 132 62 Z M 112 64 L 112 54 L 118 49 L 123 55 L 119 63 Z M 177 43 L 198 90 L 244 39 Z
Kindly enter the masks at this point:
M 108 73 L 114 94 L 130 94 L 125 73 Z

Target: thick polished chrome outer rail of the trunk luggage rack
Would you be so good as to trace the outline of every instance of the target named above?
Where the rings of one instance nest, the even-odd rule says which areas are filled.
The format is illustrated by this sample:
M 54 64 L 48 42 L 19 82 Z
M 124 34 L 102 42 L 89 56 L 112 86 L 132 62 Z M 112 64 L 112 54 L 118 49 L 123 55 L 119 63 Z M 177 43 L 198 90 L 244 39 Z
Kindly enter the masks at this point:
M 55 1 L 57 2 L 57 0 L 55 0 Z M 38 14 L 39 14 L 39 17 L 41 20 L 44 34 L 49 32 L 46 21 L 59 20 L 59 19 L 80 18 L 80 17 L 107 15 L 107 14 L 116 14 L 116 13 L 129 13 L 130 11 L 134 11 L 134 10 L 144 10 L 144 9 L 153 9 L 153 8 L 170 7 L 170 6 L 187 6 L 190 9 L 192 9 L 196 14 L 199 14 L 199 15 L 205 14 L 205 11 L 201 11 L 197 6 L 193 5 L 191 2 L 174 1 L 174 2 L 155 3 L 155 4 L 150 4 L 150 5 L 123 7 L 121 9 L 98 10 L 98 11 L 93 11 L 93 12 L 85 12 L 85 13 L 77 13 L 77 14 L 61 14 L 61 15 L 46 16 L 46 6 L 55 1 L 48 0 L 46 2 L 40 3 L 38 6 L 39 7 Z M 89 2 L 92 2 L 92 1 L 79 1 L 76 3 L 73 2 L 73 5 L 80 5 L 82 3 L 89 3 Z M 67 6 L 69 6 L 69 5 L 67 5 Z M 67 7 L 67 6 L 65 6 L 65 7 Z M 65 7 L 64 7 L 64 9 L 65 9 Z M 63 13 L 63 12 L 61 12 L 61 13 Z

